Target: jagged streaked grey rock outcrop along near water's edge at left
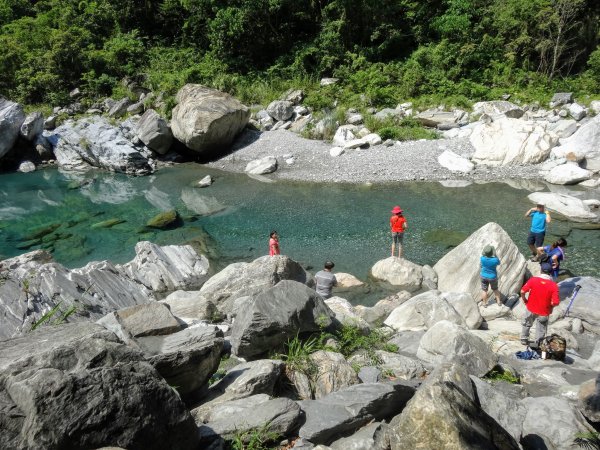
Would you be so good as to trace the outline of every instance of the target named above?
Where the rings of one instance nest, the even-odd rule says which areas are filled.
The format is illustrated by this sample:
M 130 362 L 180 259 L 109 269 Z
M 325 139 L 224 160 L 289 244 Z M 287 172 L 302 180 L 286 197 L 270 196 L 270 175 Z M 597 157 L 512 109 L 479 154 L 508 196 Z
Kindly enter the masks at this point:
M 41 250 L 4 260 L 0 305 L 10 314 L 0 316 L 0 338 L 28 331 L 59 303 L 63 311 L 75 309 L 69 321 L 97 320 L 117 309 L 151 302 L 156 291 L 198 289 L 206 278 L 208 263 L 190 246 L 139 242 L 136 253 L 123 265 L 100 261 L 78 269 L 67 269 Z

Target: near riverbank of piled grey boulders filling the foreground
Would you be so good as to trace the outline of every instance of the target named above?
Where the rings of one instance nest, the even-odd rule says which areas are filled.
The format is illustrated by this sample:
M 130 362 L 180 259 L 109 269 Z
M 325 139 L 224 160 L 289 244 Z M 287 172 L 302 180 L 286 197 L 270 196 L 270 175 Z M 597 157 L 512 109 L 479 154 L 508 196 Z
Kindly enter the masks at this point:
M 502 306 L 477 303 L 473 248 L 489 243 Z M 20 334 L 0 342 L 2 448 L 573 449 L 600 423 L 600 280 L 560 283 L 564 362 L 516 359 L 515 294 L 539 267 L 495 223 L 434 267 L 377 262 L 370 282 L 396 293 L 373 307 L 344 300 L 349 274 L 323 300 L 285 256 L 209 276 L 191 248 L 139 247 L 118 267 L 4 262 L 4 309 L 32 319 L 2 323 Z M 44 319 L 70 296 L 83 314 Z

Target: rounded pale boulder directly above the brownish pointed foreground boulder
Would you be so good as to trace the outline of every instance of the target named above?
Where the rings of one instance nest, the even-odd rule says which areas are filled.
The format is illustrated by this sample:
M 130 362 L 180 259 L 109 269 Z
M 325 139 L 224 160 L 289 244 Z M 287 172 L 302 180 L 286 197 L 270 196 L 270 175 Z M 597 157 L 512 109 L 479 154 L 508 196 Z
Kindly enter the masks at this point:
M 433 365 L 458 363 L 478 377 L 492 370 L 498 361 L 483 339 L 447 320 L 436 323 L 423 335 L 417 357 Z

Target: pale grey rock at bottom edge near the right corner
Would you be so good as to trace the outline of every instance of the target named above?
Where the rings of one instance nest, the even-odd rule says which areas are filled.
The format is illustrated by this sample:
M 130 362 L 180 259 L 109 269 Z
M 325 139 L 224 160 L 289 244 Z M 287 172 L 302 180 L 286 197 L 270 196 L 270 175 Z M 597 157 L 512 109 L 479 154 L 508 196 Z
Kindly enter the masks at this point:
M 527 397 L 521 400 L 527 409 L 523 421 L 523 448 L 574 450 L 578 433 L 592 431 L 585 418 L 564 398 Z

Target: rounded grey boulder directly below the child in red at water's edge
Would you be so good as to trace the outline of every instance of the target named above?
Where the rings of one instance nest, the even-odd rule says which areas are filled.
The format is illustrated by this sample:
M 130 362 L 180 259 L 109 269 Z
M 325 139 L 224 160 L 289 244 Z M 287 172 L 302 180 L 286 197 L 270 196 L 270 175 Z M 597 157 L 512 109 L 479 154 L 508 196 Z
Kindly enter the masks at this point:
M 259 294 L 281 280 L 314 285 L 312 276 L 287 256 L 261 256 L 251 263 L 234 263 L 225 267 L 204 283 L 200 293 L 214 302 L 221 312 L 231 314 L 234 312 L 234 300 Z

